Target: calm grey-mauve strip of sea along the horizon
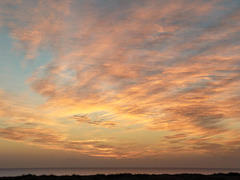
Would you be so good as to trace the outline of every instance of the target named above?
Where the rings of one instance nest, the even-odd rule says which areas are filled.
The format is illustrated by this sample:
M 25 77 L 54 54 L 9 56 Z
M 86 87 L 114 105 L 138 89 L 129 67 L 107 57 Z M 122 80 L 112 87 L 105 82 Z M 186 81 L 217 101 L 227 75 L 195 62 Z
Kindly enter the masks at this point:
M 96 174 L 214 174 L 240 173 L 239 169 L 228 168 L 11 168 L 0 169 L 0 177 L 21 175 L 96 175 Z

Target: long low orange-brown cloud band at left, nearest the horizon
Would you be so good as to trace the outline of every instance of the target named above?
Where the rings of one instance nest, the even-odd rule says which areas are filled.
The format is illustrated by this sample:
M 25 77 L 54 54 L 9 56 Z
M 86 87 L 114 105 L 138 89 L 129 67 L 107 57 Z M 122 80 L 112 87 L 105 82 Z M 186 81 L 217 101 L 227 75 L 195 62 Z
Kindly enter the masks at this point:
M 0 137 L 14 141 L 24 141 L 28 144 L 40 145 L 44 148 L 50 149 L 71 150 L 93 156 L 97 152 L 98 156 L 116 156 L 112 152 L 113 148 L 109 145 L 104 145 L 102 140 L 71 141 L 63 137 L 61 134 L 46 128 L 0 128 Z

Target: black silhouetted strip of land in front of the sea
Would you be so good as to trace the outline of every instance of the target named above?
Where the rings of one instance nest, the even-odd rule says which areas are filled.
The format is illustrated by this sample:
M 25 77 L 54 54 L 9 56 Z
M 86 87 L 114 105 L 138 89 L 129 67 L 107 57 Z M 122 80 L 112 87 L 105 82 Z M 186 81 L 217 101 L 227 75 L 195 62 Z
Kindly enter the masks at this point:
M 175 180 L 175 179 L 182 179 L 182 180 L 201 180 L 201 179 L 216 179 L 216 180 L 225 180 L 225 179 L 233 179 L 233 180 L 240 180 L 239 173 L 228 173 L 228 174 L 212 174 L 212 175 L 202 175 L 202 174 L 161 174 L 161 175 L 148 175 L 148 174 L 111 174 L 111 175 L 104 175 L 104 174 L 97 174 L 97 175 L 72 175 L 72 176 L 55 176 L 55 175 L 22 175 L 16 177 L 0 177 L 0 180 Z

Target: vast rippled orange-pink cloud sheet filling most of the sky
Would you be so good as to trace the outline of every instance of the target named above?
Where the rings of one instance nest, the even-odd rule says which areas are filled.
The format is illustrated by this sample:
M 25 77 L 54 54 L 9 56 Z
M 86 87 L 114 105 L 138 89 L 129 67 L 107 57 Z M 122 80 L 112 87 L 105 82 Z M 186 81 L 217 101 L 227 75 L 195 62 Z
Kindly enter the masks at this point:
M 54 54 L 28 79 L 31 88 L 47 98 L 39 107 L 42 112 L 81 128 L 164 132 L 165 146 L 149 145 L 142 155 L 157 156 L 174 148 L 233 148 L 224 146 L 234 144 L 231 133 L 239 129 L 240 21 L 237 1 L 226 3 L 31 1 L 15 4 L 4 14 L 11 14 L 5 21 L 27 59 L 43 49 Z M 109 116 L 95 116 L 97 112 Z M 224 135 L 223 140 L 214 137 Z M 57 147 L 77 151 L 82 144 L 59 142 Z M 94 143 L 92 149 L 79 151 L 140 156 L 144 143 L 138 139 L 129 153 L 111 146 L 106 154 L 98 153 Z

